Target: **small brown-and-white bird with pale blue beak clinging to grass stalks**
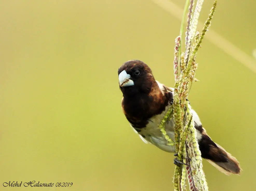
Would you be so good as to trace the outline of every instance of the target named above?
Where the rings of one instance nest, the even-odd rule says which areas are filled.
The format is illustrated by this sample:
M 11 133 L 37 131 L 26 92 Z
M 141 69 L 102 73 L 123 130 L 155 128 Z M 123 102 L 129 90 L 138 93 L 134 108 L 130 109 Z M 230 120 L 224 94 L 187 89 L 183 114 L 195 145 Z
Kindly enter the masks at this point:
M 144 62 L 130 60 L 118 69 L 119 87 L 123 93 L 122 110 L 132 128 L 146 143 L 170 152 L 175 152 L 175 146 L 168 145 L 158 124 L 173 103 L 173 89 L 155 80 L 151 69 Z M 196 128 L 196 138 L 202 157 L 221 172 L 229 175 L 239 174 L 239 162 L 207 135 L 202 127 L 197 113 L 193 112 Z M 165 124 L 169 137 L 174 138 L 174 120 Z

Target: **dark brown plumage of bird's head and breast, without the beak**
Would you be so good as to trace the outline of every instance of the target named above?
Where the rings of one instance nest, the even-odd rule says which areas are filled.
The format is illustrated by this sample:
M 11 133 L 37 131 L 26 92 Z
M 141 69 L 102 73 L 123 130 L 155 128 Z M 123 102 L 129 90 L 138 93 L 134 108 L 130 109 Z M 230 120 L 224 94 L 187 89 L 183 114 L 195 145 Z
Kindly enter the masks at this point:
M 150 117 L 163 112 L 172 100 L 172 94 L 162 94 L 151 69 L 141 61 L 127 62 L 119 68 L 118 74 L 123 70 L 132 74 L 138 69 L 141 73 L 139 77 L 133 77 L 135 86 L 119 87 L 123 92 L 122 108 L 127 120 L 134 128 L 144 128 Z

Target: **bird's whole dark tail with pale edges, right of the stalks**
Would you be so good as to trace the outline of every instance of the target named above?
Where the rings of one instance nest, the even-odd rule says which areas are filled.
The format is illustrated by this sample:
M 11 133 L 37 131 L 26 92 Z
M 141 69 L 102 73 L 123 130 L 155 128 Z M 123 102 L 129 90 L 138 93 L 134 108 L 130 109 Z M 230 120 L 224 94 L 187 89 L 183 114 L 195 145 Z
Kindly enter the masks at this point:
M 241 168 L 239 162 L 230 153 L 226 152 L 224 148 L 216 144 L 206 134 L 202 133 L 202 138 L 199 141 L 199 147 L 202 153 L 202 157 L 207 159 L 213 166 L 219 171 L 230 175 L 240 174 Z

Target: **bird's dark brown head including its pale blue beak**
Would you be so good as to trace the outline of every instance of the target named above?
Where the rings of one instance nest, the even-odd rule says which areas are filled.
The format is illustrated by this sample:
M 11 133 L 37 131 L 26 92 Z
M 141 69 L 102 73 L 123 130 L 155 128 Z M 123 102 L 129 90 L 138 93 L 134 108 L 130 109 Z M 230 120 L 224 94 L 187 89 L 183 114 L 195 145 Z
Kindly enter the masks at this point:
M 124 62 L 118 69 L 119 87 L 124 96 L 149 93 L 156 84 L 151 69 L 140 60 Z

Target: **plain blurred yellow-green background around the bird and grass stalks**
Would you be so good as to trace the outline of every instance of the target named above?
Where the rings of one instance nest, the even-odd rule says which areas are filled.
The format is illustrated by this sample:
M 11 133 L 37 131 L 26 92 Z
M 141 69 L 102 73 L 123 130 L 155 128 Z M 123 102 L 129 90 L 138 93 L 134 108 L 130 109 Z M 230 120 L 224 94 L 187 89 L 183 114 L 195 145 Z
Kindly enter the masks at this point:
M 183 8 L 184 1 L 172 2 Z M 212 3 L 204 3 L 200 21 Z M 208 33 L 250 55 L 255 6 L 219 1 Z M 130 128 L 117 69 L 140 59 L 172 86 L 180 20 L 147 0 L 2 0 L 0 23 L 0 190 L 173 190 L 174 156 Z M 203 161 L 209 189 L 255 190 L 255 73 L 207 39 L 197 62 L 191 105 L 243 169 L 226 176 Z M 2 186 L 32 180 L 54 187 Z

